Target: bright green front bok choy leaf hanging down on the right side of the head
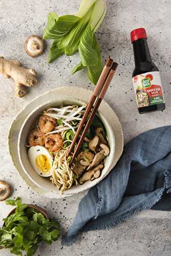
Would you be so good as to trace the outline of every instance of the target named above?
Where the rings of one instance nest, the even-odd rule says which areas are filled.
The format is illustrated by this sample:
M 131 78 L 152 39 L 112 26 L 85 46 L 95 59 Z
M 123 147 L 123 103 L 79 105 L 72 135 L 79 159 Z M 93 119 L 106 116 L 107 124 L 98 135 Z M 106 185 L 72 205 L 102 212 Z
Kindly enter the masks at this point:
M 95 66 L 98 63 L 98 54 L 93 48 L 93 32 L 90 24 L 84 30 L 79 43 L 78 51 L 83 66 Z

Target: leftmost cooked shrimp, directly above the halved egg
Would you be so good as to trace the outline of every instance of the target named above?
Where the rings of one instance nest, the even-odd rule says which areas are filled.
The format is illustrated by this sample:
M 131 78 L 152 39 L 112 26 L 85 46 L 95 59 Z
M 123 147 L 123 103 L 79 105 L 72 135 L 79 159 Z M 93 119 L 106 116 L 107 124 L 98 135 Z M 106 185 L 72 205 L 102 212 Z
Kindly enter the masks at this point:
M 41 133 L 37 128 L 30 131 L 28 136 L 28 143 L 30 146 L 44 146 L 45 145 L 45 133 Z

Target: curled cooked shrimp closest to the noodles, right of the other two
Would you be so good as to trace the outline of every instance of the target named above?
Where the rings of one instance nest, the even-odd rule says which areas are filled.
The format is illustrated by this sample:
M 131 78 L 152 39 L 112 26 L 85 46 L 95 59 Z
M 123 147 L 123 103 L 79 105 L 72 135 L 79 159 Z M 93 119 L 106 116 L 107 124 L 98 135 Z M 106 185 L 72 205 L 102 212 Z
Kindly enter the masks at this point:
M 45 147 L 48 148 L 49 151 L 56 152 L 59 151 L 62 147 L 63 140 L 60 134 L 49 134 L 45 140 Z

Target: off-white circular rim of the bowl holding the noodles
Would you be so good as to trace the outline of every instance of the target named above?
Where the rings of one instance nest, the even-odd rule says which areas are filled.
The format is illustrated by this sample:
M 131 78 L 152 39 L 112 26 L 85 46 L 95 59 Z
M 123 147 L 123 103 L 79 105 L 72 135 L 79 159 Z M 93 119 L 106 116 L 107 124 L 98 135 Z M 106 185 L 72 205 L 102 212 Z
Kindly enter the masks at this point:
M 47 104 L 49 104 L 49 103 L 55 103 L 56 101 L 60 101 L 60 100 L 61 100 L 61 101 L 62 101 L 62 100 L 65 101 L 66 99 L 68 99 L 68 100 L 70 100 L 70 101 L 72 101 L 72 100 L 73 100 L 73 101 L 74 101 L 74 100 L 75 100 L 75 101 L 79 101 L 80 104 L 87 103 L 86 101 L 84 101 L 84 100 L 82 100 L 82 99 L 78 99 L 78 98 L 75 98 L 75 97 L 63 96 L 63 95 L 61 95 L 60 98 L 57 98 L 57 99 L 55 99 L 55 100 L 48 100 L 48 101 L 44 102 L 43 104 L 38 105 L 34 110 L 32 110 L 32 111 L 30 112 L 30 114 L 26 117 L 26 119 L 24 120 L 22 126 L 20 127 L 20 131 L 19 131 L 19 134 L 18 134 L 18 143 L 17 143 L 17 150 L 18 150 L 19 162 L 20 162 L 20 164 L 22 165 L 22 168 L 23 168 L 24 172 L 26 173 L 26 175 L 29 177 L 29 179 L 30 179 L 34 184 L 36 184 L 38 187 L 40 187 L 40 188 L 44 188 L 44 189 L 45 189 L 45 187 L 41 186 L 41 185 L 40 185 L 39 183 L 37 183 L 34 179 L 32 179 L 32 177 L 29 175 L 29 173 L 27 172 L 27 170 L 26 170 L 26 168 L 25 168 L 25 166 L 24 166 L 24 164 L 23 164 L 23 161 L 22 161 L 22 158 L 21 158 L 21 155 L 20 155 L 20 146 L 19 146 L 19 144 L 20 144 L 20 139 L 21 139 L 21 136 L 22 136 L 22 132 L 23 132 L 23 129 L 24 129 L 25 124 L 27 123 L 28 119 L 29 119 L 36 111 L 38 111 L 38 109 L 40 109 L 42 106 L 47 105 Z M 56 102 L 56 103 L 57 103 L 57 102 Z M 100 110 L 98 110 L 98 114 L 106 121 L 106 118 L 105 118 L 104 115 L 100 112 Z M 112 130 L 112 127 L 111 127 L 110 123 L 108 123 L 108 122 L 106 121 L 106 124 L 108 125 L 109 130 L 110 130 L 110 132 L 111 132 L 111 134 L 112 134 L 113 143 L 114 143 L 114 149 L 113 149 L 113 156 L 112 156 L 112 158 L 111 158 L 111 162 L 110 162 L 108 168 L 106 169 L 105 173 L 104 173 L 103 175 L 101 175 L 98 179 L 95 179 L 95 181 L 96 181 L 95 184 L 91 184 L 91 183 L 90 183 L 90 185 L 89 185 L 88 187 L 82 188 L 81 190 L 75 191 L 75 192 L 72 192 L 72 193 L 69 191 L 70 189 L 67 189 L 67 190 L 63 191 L 63 194 L 65 194 L 65 195 L 75 195 L 75 194 L 78 194 L 78 193 L 80 193 L 80 192 L 83 192 L 83 191 L 85 191 L 85 190 L 87 190 L 87 189 L 90 189 L 91 187 L 97 185 L 101 180 L 103 180 L 103 179 L 111 172 L 111 164 L 112 164 L 112 161 L 114 160 L 114 155 L 115 155 L 115 135 L 114 135 L 114 132 L 113 132 L 113 130 Z M 106 124 L 105 124 L 105 125 L 106 125 Z M 105 166 L 104 166 L 104 168 L 105 168 Z M 81 185 L 79 185 L 79 186 L 81 187 Z M 59 194 L 58 191 L 54 191 L 54 190 L 50 190 L 50 191 L 51 191 L 52 193 L 54 193 L 54 194 Z

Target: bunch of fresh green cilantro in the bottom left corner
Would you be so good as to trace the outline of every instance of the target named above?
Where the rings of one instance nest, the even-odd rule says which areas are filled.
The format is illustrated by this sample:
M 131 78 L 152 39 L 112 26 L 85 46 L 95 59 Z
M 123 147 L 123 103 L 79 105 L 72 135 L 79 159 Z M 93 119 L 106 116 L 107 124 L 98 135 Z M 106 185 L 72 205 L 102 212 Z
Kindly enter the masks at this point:
M 11 253 L 22 256 L 33 255 L 40 242 L 52 244 L 59 237 L 59 223 L 46 219 L 36 209 L 16 200 L 6 200 L 7 205 L 16 206 L 14 214 L 5 218 L 5 225 L 0 229 L 0 246 L 9 248 Z

